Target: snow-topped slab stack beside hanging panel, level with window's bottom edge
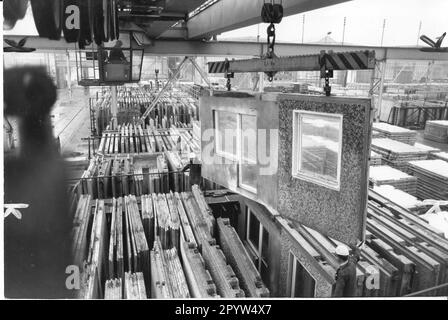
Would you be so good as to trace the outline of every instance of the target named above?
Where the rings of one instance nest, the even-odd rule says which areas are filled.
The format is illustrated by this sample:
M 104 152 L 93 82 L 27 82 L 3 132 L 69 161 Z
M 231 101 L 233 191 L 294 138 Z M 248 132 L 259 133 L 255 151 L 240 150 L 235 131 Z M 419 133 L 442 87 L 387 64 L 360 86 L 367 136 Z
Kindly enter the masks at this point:
M 371 166 L 369 180 L 375 186 L 391 185 L 411 195 L 417 194 L 417 178 L 389 166 Z

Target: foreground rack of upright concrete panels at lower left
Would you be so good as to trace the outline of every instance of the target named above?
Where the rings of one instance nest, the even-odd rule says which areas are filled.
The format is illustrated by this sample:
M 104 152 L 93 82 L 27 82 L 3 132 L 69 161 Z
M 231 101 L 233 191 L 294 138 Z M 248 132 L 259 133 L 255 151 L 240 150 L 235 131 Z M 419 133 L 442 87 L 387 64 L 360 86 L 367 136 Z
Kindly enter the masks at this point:
M 252 261 L 238 256 L 241 241 L 229 238 L 226 254 L 236 257 L 238 270 L 251 271 L 240 274 L 242 280 L 216 245 L 216 222 L 197 186 L 181 194 L 82 195 L 73 224 L 73 259 L 83 270 L 80 298 L 243 297 L 239 283 L 249 283 L 249 276 L 259 286 L 255 294 L 266 295 Z M 225 234 L 235 235 L 229 226 Z

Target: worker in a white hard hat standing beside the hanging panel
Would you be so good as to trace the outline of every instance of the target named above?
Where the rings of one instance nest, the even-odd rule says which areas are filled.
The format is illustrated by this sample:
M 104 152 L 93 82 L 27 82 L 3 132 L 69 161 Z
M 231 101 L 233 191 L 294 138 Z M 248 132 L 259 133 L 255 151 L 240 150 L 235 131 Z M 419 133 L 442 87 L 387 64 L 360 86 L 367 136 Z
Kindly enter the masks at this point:
M 336 271 L 336 283 L 332 296 L 354 297 L 356 296 L 356 264 L 359 261 L 359 249 L 355 247 L 350 254 L 350 249 L 341 244 L 336 247 L 335 255 L 340 265 Z

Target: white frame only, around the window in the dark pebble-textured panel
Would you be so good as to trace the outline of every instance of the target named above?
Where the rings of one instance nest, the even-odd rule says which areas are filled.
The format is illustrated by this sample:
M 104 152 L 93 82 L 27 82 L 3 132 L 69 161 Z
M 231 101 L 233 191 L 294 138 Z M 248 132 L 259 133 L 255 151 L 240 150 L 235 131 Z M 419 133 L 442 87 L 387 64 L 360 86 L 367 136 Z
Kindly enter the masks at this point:
M 308 171 L 301 170 L 301 151 L 302 151 L 302 128 L 301 120 L 303 116 L 312 115 L 323 118 L 334 118 L 339 120 L 339 142 L 338 142 L 338 160 L 337 160 L 337 177 L 335 180 L 325 179 L 321 175 L 312 174 Z M 293 142 L 292 142 L 292 176 L 296 179 L 312 182 L 317 185 L 340 191 L 341 189 L 341 162 L 342 162 L 342 144 L 343 144 L 343 123 L 344 116 L 336 113 L 314 112 L 306 110 L 293 110 Z

